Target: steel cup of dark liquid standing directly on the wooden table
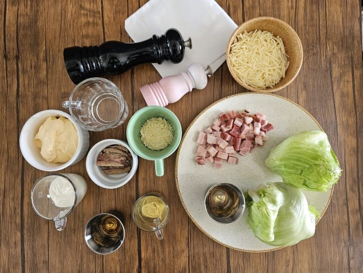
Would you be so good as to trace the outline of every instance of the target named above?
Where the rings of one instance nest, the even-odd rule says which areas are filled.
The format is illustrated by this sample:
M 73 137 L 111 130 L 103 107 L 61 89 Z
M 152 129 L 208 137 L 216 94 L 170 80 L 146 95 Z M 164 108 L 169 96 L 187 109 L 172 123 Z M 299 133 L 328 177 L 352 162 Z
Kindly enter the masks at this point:
M 85 228 L 85 240 L 91 251 L 105 255 L 118 250 L 125 239 L 125 228 L 114 214 L 93 216 Z

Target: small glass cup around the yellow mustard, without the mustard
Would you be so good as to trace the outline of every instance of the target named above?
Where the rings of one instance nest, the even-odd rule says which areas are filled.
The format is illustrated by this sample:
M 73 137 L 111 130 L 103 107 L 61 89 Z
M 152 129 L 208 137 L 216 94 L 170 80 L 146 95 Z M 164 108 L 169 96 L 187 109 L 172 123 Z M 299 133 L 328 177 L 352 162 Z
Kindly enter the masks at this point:
M 144 201 L 148 197 L 156 197 L 158 202 L 161 202 L 165 206 L 164 211 L 160 218 L 151 218 L 144 216 L 142 213 L 142 207 Z M 146 232 L 155 232 L 156 237 L 161 240 L 164 238 L 163 228 L 168 223 L 169 220 L 169 206 L 165 201 L 164 197 L 158 192 L 151 192 L 141 196 L 136 200 L 134 206 L 132 207 L 132 220 L 136 226 Z

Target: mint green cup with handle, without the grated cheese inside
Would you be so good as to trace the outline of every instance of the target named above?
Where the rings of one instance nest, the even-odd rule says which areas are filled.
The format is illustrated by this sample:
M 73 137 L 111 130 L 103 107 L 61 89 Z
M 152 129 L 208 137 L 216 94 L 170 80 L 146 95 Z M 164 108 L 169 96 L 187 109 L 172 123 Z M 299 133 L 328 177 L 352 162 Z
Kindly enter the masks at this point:
M 161 150 L 149 149 L 141 140 L 140 130 L 144 123 L 151 118 L 163 118 L 174 129 L 172 142 Z M 131 149 L 140 157 L 155 161 L 155 173 L 164 175 L 164 158 L 171 155 L 178 148 L 181 141 L 181 124 L 177 116 L 161 106 L 147 106 L 137 111 L 130 119 L 126 130 L 127 142 Z

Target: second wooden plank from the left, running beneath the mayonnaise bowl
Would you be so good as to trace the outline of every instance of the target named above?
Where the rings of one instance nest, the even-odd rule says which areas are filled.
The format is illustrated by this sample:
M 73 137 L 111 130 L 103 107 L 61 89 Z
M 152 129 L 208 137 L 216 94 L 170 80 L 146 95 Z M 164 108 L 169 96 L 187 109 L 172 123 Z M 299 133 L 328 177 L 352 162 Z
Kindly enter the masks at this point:
M 46 62 L 44 46 L 44 11 L 36 5 L 19 2 L 17 10 L 16 41 L 18 48 L 17 70 L 17 100 L 20 117 L 18 130 L 24 122 L 44 105 L 47 105 Z M 35 91 L 36 92 L 33 92 Z M 29 92 L 31 91 L 31 92 Z M 11 154 L 21 158 L 20 151 Z M 17 159 L 14 158 L 14 161 Z M 20 162 L 20 161 L 18 161 Z M 18 180 L 21 189 L 21 211 L 23 236 L 23 265 L 25 271 L 47 271 L 48 264 L 48 223 L 41 220 L 32 210 L 30 204 L 30 191 L 33 183 L 43 172 L 34 170 L 22 160 L 22 175 Z M 34 240 L 41 238 L 41 240 Z M 34 251 L 25 251 L 25 250 Z

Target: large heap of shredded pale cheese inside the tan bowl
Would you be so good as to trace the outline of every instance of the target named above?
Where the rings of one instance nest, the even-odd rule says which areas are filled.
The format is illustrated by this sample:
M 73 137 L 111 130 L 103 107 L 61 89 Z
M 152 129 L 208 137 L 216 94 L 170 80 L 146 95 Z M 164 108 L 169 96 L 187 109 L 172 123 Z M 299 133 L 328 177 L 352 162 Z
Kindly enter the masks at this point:
M 287 57 L 280 37 L 257 29 L 238 34 L 229 55 L 240 80 L 257 89 L 273 87 L 285 77 Z

